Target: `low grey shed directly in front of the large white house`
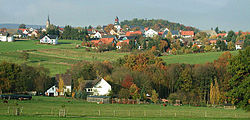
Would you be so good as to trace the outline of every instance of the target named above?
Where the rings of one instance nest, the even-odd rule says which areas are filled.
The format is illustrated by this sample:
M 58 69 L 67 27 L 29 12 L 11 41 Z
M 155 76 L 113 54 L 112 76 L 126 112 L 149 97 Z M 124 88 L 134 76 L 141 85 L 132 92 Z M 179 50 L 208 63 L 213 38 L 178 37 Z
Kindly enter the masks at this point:
M 110 96 L 87 96 L 88 102 L 110 103 Z

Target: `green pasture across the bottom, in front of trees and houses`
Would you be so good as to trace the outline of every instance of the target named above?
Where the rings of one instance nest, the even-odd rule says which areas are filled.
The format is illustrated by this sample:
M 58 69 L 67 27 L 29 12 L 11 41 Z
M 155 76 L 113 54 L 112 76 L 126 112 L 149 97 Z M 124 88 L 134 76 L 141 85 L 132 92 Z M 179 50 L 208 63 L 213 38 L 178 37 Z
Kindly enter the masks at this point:
M 241 109 L 167 106 L 160 104 L 96 104 L 62 97 L 34 96 L 32 100 L 0 100 L 0 119 L 59 119 L 65 105 L 66 117 L 61 119 L 250 119 L 249 112 Z M 21 115 L 14 116 L 16 105 Z

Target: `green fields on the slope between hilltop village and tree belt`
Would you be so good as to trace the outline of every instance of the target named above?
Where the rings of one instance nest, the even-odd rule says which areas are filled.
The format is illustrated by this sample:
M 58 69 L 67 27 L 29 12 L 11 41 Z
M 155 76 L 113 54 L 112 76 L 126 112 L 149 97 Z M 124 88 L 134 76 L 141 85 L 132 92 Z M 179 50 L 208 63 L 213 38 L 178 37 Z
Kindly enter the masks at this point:
M 64 73 L 72 64 L 87 61 L 115 61 L 119 57 L 123 57 L 129 53 L 120 53 L 117 51 L 109 51 L 98 53 L 94 50 L 88 52 L 84 48 L 76 49 L 77 44 L 81 41 L 77 40 L 59 40 L 58 45 L 38 44 L 37 40 L 17 40 L 16 42 L 0 42 L 0 61 L 14 62 L 18 64 L 27 63 L 32 66 L 44 66 L 50 70 L 51 75 Z M 22 50 L 29 50 L 29 59 L 24 61 L 20 59 Z M 223 52 L 210 52 L 186 55 L 169 55 L 162 56 L 167 63 L 188 63 L 203 64 L 212 62 L 217 59 Z M 231 52 L 236 54 L 237 51 Z

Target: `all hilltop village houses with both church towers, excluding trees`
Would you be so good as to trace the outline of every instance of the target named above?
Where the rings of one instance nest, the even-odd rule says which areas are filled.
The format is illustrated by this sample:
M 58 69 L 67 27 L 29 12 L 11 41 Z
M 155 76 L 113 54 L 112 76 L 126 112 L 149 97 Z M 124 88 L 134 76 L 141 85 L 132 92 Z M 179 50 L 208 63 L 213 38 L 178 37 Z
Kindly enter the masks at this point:
M 50 26 L 50 19 L 46 21 L 46 28 Z M 173 38 L 178 38 L 180 42 L 184 45 L 188 45 L 190 42 L 192 44 L 196 44 L 197 46 L 202 46 L 204 43 L 201 43 L 199 40 L 195 40 L 195 32 L 194 31 L 182 31 L 182 30 L 169 30 L 168 28 L 162 28 L 160 30 L 154 30 L 152 28 L 144 27 L 144 26 L 128 26 L 131 30 L 133 28 L 139 28 L 135 31 L 129 31 L 128 28 L 122 28 L 119 22 L 119 18 L 115 18 L 115 22 L 113 24 L 113 28 L 110 31 L 105 31 L 107 26 L 103 26 L 100 28 L 90 28 L 87 29 L 88 35 L 90 37 L 90 42 L 92 46 L 98 47 L 101 44 L 115 44 L 117 49 L 121 49 L 124 44 L 129 44 L 130 40 L 135 40 L 136 36 L 140 35 L 145 38 L 153 38 L 154 36 L 162 36 L 165 38 L 169 33 Z M 40 43 L 42 44 L 58 44 L 58 36 L 56 35 L 41 35 L 42 32 L 46 32 L 46 28 L 34 29 L 34 28 L 19 28 L 15 34 L 10 34 L 6 30 L 0 30 L 0 41 L 3 42 L 13 42 L 14 38 L 20 37 L 36 37 L 40 39 Z M 59 31 L 63 33 L 64 28 L 59 28 Z M 217 38 L 225 38 L 227 33 L 219 33 L 217 34 L 214 30 L 204 30 L 200 32 L 205 32 L 208 36 L 216 36 L 216 39 L 209 39 L 210 44 L 216 44 Z M 236 32 L 235 34 L 238 34 Z M 242 34 L 249 34 L 248 32 L 242 32 Z M 221 39 L 220 39 L 221 40 Z M 223 40 L 223 39 L 222 39 Z M 225 43 L 226 41 L 223 40 Z M 242 49 L 244 41 L 237 41 L 235 43 L 236 50 Z M 226 43 L 227 44 L 227 43 Z M 142 46 L 139 46 L 138 49 L 141 49 Z

